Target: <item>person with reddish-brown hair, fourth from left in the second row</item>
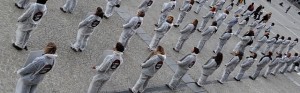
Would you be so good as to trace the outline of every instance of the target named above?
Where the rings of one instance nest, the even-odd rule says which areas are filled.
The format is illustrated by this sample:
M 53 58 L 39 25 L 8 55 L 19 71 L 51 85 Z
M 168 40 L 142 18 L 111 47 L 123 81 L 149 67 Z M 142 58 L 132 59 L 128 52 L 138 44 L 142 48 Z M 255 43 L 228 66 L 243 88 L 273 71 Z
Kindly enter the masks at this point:
M 173 23 L 173 16 L 168 16 L 167 21 L 164 22 L 159 28 L 155 28 L 155 34 L 149 44 L 150 50 L 155 50 L 159 45 L 160 40 L 165 36 L 165 34 L 170 30 Z

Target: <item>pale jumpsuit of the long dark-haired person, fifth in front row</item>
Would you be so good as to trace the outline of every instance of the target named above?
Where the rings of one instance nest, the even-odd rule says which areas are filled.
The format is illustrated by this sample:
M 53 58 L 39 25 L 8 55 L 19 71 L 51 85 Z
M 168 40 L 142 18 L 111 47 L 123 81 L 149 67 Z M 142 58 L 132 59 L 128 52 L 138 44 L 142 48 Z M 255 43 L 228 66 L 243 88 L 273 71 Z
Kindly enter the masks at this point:
M 197 84 L 199 84 L 199 85 L 205 84 L 208 76 L 210 76 L 212 73 L 214 73 L 214 71 L 216 69 L 218 69 L 219 66 L 217 65 L 217 62 L 215 61 L 215 59 L 210 59 L 210 60 L 208 60 L 208 62 L 206 64 L 204 64 L 202 66 L 202 68 L 203 68 L 202 74 L 197 82 Z

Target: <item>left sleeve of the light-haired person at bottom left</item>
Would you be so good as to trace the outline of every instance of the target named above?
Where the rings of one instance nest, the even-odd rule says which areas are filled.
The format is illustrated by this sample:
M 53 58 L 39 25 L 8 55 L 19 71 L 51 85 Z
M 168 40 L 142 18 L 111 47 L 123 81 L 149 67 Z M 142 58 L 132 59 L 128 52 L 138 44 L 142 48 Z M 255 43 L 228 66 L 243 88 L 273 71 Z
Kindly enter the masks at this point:
M 42 63 L 41 59 L 35 58 L 32 63 L 28 64 L 26 67 L 21 68 L 20 70 L 17 71 L 17 73 L 20 75 L 35 73 L 38 70 L 41 63 Z

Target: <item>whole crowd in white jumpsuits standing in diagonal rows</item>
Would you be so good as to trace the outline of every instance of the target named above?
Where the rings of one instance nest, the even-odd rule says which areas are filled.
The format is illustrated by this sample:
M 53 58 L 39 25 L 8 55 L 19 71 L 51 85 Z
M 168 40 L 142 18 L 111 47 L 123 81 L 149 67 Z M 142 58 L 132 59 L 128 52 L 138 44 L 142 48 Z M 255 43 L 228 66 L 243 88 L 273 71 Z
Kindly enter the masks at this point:
M 37 28 L 37 25 L 41 19 L 46 16 L 47 0 L 37 0 L 35 3 L 29 4 L 29 0 L 17 0 L 15 6 L 19 9 L 26 9 L 26 11 L 18 18 L 18 28 L 16 30 L 16 38 L 12 46 L 17 50 L 28 50 L 27 42 L 30 38 L 30 33 Z M 135 16 L 130 17 L 123 24 L 123 32 L 121 33 L 118 42 L 116 43 L 113 53 L 106 55 L 101 65 L 94 66 L 93 69 L 97 71 L 97 74 L 93 77 L 90 86 L 88 88 L 88 93 L 99 93 L 102 86 L 110 79 L 110 77 L 115 73 L 119 66 L 123 63 L 122 54 L 126 51 L 128 44 L 130 43 L 131 37 L 136 33 L 137 29 L 143 24 L 143 18 L 146 12 L 151 8 L 154 2 L 160 2 L 158 0 L 143 0 L 138 6 L 138 12 Z M 176 8 L 176 0 L 170 0 L 162 5 L 162 10 L 160 11 L 160 16 L 155 25 L 154 36 L 148 46 L 151 51 L 150 55 L 146 58 L 144 62 L 141 63 L 142 72 L 137 82 L 129 91 L 132 93 L 144 92 L 148 81 L 155 75 L 155 73 L 162 67 L 166 59 L 166 53 L 164 47 L 159 43 L 161 39 L 167 34 L 170 28 L 179 27 L 184 21 L 184 17 L 191 11 L 192 6 L 196 5 L 194 11 L 195 14 L 201 12 L 201 8 L 205 7 L 205 3 L 208 0 L 183 0 L 183 4 L 179 7 L 179 16 L 176 22 L 173 22 L 174 17 L 169 15 L 171 11 Z M 187 24 L 183 29 L 180 30 L 180 37 L 173 48 L 174 51 L 179 52 L 185 41 L 195 32 L 201 32 L 201 39 L 196 47 L 191 48 L 191 53 L 184 56 L 182 59 L 177 61 L 178 69 L 172 77 L 172 80 L 166 84 L 166 86 L 175 90 L 182 79 L 182 77 L 187 73 L 189 69 L 193 67 L 196 62 L 197 54 L 201 53 L 201 50 L 205 47 L 205 43 L 214 35 L 215 33 L 224 32 L 218 42 L 218 46 L 215 50 L 212 50 L 215 55 L 213 55 L 203 66 L 202 74 L 198 81 L 195 83 L 197 86 L 202 87 L 207 82 L 208 76 L 212 75 L 215 70 L 217 70 L 222 61 L 223 54 L 222 48 L 226 45 L 226 42 L 230 40 L 231 36 L 234 35 L 240 39 L 240 41 L 235 45 L 232 51 L 232 59 L 225 63 L 225 69 L 220 80 L 217 80 L 220 84 L 227 81 L 230 73 L 240 64 L 240 71 L 234 77 L 234 80 L 240 81 L 244 73 L 253 67 L 255 59 L 257 59 L 258 53 L 264 55 L 258 60 L 255 72 L 249 76 L 250 79 L 255 80 L 263 68 L 267 68 L 267 71 L 262 75 L 262 77 L 267 78 L 269 74 L 276 75 L 279 73 L 283 74 L 286 72 L 297 71 L 295 67 L 299 68 L 300 56 L 298 53 L 292 55 L 291 50 L 297 45 L 298 38 L 292 41 L 291 37 L 277 34 L 276 36 L 270 38 L 270 32 L 275 23 L 271 23 L 266 26 L 269 22 L 272 13 L 266 13 L 263 17 L 263 5 L 259 5 L 255 9 L 254 3 L 248 5 L 245 9 L 246 1 L 231 0 L 231 3 L 223 8 L 225 2 L 230 2 L 226 0 L 212 0 L 209 5 L 210 11 L 206 13 L 200 19 L 194 19 L 191 23 Z M 66 3 L 60 8 L 63 13 L 73 13 L 77 4 L 77 0 L 66 0 Z M 82 52 L 87 46 L 89 37 L 92 35 L 94 28 L 97 27 L 103 18 L 109 19 L 113 14 L 115 8 L 121 7 L 121 0 L 107 0 L 106 8 L 103 11 L 101 7 L 97 7 L 94 14 L 87 16 L 84 20 L 79 23 L 78 33 L 75 42 L 70 46 L 74 52 Z M 233 7 L 238 6 L 237 10 L 233 11 Z M 219 13 L 218 13 L 219 12 Z M 229 13 L 234 14 L 232 18 L 228 18 Z M 250 23 L 250 18 L 254 21 Z M 224 20 L 228 19 L 229 22 L 225 23 Z M 206 26 L 209 20 L 213 20 L 210 26 Z M 198 26 L 198 21 L 201 24 Z M 173 24 L 174 23 L 174 24 Z M 248 24 L 249 23 L 249 24 Z M 220 26 L 227 24 L 226 29 L 219 29 Z M 233 30 L 234 26 L 238 26 L 237 30 Z M 249 26 L 250 29 L 244 29 Z M 264 33 L 263 30 L 265 29 Z M 233 32 L 235 31 L 235 32 Z M 240 33 L 244 33 L 242 36 Z M 261 37 L 259 37 L 262 35 Z M 255 43 L 255 45 L 253 44 Z M 264 50 L 261 47 L 266 44 Z M 281 46 L 281 47 L 280 47 Z M 36 57 L 31 63 L 24 66 L 18 70 L 18 74 L 21 78 L 18 80 L 16 93 L 34 93 L 36 91 L 37 85 L 43 80 L 45 74 L 49 72 L 54 63 L 56 62 L 55 57 L 56 45 L 53 42 L 47 44 L 44 48 L 44 54 L 42 56 Z M 246 47 L 250 47 L 250 55 L 243 60 L 246 53 Z M 277 48 L 280 47 L 279 50 Z M 287 49 L 286 49 L 287 48 Z M 261 50 L 261 52 L 258 52 Z M 286 50 L 286 51 L 284 51 Z M 229 54 L 229 53 L 228 53 Z M 276 55 L 275 58 L 272 55 Z

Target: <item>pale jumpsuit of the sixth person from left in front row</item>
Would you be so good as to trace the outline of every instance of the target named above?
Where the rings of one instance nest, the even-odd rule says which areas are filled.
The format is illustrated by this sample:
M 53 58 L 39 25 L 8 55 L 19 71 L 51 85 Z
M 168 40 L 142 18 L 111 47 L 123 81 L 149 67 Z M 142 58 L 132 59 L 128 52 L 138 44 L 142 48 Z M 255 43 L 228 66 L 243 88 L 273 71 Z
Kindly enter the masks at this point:
M 234 56 L 227 64 L 225 64 L 226 68 L 220 79 L 221 82 L 227 81 L 228 76 L 230 73 L 236 68 L 236 66 L 240 63 L 240 59 L 238 56 Z

